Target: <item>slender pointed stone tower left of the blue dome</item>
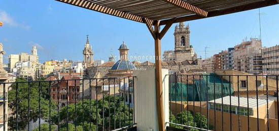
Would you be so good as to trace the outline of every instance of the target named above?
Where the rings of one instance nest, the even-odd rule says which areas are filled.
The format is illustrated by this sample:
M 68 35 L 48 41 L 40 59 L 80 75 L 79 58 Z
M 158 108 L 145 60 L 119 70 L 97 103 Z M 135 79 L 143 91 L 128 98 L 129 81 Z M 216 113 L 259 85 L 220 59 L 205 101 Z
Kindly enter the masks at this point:
M 93 66 L 93 50 L 92 46 L 89 45 L 89 38 L 87 35 L 86 44 L 83 49 L 83 62 L 85 67 Z

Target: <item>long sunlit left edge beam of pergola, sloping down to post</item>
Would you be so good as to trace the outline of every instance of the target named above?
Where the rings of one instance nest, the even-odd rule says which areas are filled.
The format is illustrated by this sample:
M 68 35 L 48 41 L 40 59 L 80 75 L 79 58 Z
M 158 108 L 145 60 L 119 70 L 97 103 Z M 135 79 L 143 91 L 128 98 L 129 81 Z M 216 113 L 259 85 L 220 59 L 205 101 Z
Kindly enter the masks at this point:
M 145 23 L 143 21 L 143 17 L 141 17 L 141 16 L 136 16 L 136 15 L 132 15 L 132 14 L 129 14 L 129 13 L 126 13 L 126 12 L 118 11 L 118 10 L 107 8 L 107 7 L 103 7 L 103 6 L 100 6 L 100 5 L 97 5 L 97 4 L 93 4 L 90 1 L 84 1 L 84 0 L 55 0 L 55 1 L 70 4 L 70 5 L 74 5 L 74 6 L 78 6 L 78 7 L 82 7 L 82 8 L 85 8 L 85 9 L 89 9 L 89 10 L 92 10 L 92 11 L 97 11 L 97 12 L 108 14 L 108 15 L 117 16 L 117 17 L 120 17 L 120 18 L 128 19 L 128 20 L 133 20 L 133 21 L 136 21 L 136 22 Z M 152 21 L 148 18 L 144 18 L 144 19 L 146 19 L 147 21 Z

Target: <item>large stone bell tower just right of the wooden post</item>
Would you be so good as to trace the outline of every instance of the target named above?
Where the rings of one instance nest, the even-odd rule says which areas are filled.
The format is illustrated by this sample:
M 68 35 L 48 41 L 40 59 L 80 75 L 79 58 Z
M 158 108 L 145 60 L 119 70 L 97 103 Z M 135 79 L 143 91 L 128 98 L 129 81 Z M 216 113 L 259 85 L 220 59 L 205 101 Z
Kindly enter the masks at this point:
M 193 46 L 190 45 L 189 24 L 185 27 L 184 22 L 180 22 L 179 26 L 175 27 L 173 35 L 175 36 L 175 51 L 165 51 L 163 60 L 178 62 L 197 60 L 197 54 L 194 52 Z

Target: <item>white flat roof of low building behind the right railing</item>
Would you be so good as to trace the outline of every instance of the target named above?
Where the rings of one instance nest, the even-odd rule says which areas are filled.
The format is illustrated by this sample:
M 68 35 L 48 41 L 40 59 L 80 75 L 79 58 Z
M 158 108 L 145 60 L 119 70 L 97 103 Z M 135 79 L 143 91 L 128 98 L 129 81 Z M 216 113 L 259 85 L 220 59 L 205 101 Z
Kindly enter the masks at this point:
M 257 99 L 255 98 L 248 98 L 249 101 L 249 108 L 257 108 Z M 214 100 L 209 101 L 210 103 L 214 103 Z M 268 103 L 273 102 L 273 100 L 268 100 Z M 216 104 L 222 104 L 222 98 L 215 100 Z M 223 97 L 223 105 L 230 105 L 230 96 Z M 238 107 L 238 97 L 231 96 L 231 105 Z M 246 107 L 247 108 L 247 98 L 239 97 L 239 107 Z M 258 105 L 263 106 L 266 105 L 265 99 L 258 99 Z

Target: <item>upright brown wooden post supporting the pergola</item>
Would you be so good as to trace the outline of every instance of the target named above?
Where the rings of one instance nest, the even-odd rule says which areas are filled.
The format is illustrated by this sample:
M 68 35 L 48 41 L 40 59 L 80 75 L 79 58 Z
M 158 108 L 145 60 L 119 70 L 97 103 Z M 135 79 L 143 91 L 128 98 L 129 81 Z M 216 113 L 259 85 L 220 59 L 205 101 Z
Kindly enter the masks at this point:
M 155 71 L 156 71 L 156 103 L 158 115 L 158 129 L 165 130 L 164 120 L 164 103 L 163 103 L 163 89 L 162 89 L 162 62 L 161 62 L 161 39 L 160 39 L 160 21 L 155 21 Z

